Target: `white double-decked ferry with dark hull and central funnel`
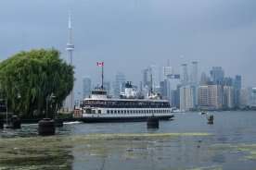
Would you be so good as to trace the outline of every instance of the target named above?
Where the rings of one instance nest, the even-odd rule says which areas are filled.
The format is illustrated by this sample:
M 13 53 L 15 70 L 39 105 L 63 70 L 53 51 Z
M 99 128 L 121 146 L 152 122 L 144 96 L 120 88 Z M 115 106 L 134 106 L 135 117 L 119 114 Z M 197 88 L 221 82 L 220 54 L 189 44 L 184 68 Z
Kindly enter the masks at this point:
M 169 101 L 161 100 L 152 92 L 147 99 L 140 99 L 135 93 L 131 82 L 126 83 L 120 99 L 109 97 L 103 86 L 95 89 L 81 104 L 83 122 L 146 121 L 149 116 L 168 120 L 173 117 Z

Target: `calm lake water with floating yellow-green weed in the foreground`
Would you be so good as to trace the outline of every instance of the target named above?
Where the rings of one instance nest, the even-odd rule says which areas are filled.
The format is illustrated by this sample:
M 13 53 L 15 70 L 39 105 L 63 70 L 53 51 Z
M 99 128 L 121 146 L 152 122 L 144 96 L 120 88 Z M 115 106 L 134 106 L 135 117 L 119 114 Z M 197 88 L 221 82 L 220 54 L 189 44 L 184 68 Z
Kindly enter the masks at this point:
M 256 112 L 176 114 L 160 121 L 65 124 L 53 137 L 37 125 L 0 130 L 0 170 L 255 170 Z

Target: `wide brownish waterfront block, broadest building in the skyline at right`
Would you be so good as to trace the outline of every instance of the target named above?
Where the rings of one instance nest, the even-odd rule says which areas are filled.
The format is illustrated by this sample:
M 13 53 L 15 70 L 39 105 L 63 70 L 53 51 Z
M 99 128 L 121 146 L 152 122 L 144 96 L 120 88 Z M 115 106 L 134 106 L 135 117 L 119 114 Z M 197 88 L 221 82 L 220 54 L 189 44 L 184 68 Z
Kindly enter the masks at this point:
M 223 107 L 223 88 L 221 85 L 198 87 L 198 107 L 207 110 L 218 110 Z

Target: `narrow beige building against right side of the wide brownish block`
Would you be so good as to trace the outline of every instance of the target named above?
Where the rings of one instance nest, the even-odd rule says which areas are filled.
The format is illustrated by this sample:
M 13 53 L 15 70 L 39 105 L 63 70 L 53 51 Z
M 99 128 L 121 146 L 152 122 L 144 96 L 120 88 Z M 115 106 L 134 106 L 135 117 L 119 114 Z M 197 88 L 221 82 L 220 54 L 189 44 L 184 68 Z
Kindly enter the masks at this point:
M 224 108 L 233 109 L 235 104 L 235 94 L 234 87 L 232 86 L 224 86 Z

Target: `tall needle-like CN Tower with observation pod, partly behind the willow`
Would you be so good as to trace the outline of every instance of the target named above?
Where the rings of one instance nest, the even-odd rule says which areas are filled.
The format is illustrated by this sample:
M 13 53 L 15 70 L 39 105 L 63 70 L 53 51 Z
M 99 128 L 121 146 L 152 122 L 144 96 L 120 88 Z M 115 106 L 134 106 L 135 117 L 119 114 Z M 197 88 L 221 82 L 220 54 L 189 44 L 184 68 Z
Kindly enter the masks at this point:
M 73 65 L 73 56 L 72 55 L 73 55 L 74 45 L 72 42 L 71 14 L 69 15 L 68 29 L 69 29 L 69 38 L 68 38 L 66 50 L 68 52 L 68 63 L 70 65 Z M 74 108 L 74 92 L 73 92 L 73 90 L 70 91 L 70 95 L 66 98 L 64 107 L 68 111 L 73 110 L 73 108 Z

